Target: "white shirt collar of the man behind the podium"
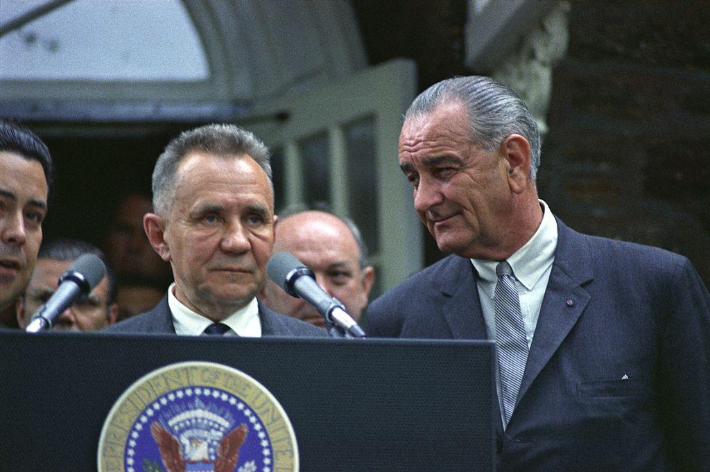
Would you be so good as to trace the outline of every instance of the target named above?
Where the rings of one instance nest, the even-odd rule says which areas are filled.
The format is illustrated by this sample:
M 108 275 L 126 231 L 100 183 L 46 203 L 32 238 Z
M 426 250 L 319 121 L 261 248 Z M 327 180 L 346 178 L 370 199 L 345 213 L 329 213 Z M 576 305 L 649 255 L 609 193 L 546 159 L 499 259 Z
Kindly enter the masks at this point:
M 170 312 L 173 312 L 173 325 L 175 333 L 197 336 L 202 334 L 207 326 L 212 324 L 212 320 L 195 313 L 192 309 L 186 307 L 173 293 L 175 282 L 168 287 L 168 306 Z M 223 319 L 220 323 L 224 323 L 231 331 L 239 334 L 239 336 L 261 336 L 261 321 L 259 319 L 259 307 L 256 297 L 251 299 L 251 302 L 246 306 L 236 310 L 236 312 Z M 229 334 L 229 331 L 227 331 Z

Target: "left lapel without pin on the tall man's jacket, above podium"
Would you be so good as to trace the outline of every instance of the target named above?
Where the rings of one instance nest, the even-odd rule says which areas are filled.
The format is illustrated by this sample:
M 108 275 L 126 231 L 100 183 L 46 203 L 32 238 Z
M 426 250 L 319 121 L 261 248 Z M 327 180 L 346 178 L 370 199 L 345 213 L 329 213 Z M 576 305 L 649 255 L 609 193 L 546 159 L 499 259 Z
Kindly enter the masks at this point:
M 488 339 L 474 273 L 471 261 L 459 256 L 444 265 L 442 317 L 454 339 Z

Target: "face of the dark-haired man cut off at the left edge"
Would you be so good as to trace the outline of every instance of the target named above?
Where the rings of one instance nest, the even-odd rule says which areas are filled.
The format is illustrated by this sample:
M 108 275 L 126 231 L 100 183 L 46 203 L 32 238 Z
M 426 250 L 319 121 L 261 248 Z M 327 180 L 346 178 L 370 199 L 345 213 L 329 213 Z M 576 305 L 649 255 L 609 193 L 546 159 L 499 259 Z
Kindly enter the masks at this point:
M 39 161 L 0 151 L 0 312 L 25 290 L 35 267 L 47 192 Z

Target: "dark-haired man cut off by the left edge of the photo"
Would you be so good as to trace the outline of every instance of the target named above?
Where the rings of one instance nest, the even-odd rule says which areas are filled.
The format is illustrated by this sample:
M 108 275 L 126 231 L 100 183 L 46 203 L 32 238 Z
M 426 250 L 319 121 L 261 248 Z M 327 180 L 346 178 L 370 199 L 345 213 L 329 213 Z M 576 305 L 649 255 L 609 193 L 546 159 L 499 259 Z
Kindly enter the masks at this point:
M 17 328 L 24 292 L 42 243 L 52 158 L 32 131 L 0 121 L 0 328 Z

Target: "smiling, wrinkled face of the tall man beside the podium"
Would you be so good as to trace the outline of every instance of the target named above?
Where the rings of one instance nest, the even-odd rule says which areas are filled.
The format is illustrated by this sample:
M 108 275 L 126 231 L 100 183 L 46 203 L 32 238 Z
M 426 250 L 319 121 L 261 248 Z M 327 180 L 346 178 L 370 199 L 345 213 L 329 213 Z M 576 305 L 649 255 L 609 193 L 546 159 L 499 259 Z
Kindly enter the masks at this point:
M 405 121 L 400 168 L 412 182 L 415 211 L 444 252 L 494 258 L 513 205 L 508 162 L 469 138 L 461 104 Z

